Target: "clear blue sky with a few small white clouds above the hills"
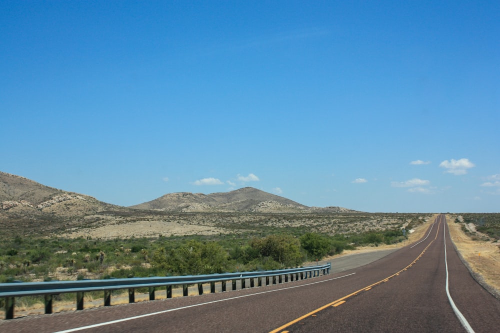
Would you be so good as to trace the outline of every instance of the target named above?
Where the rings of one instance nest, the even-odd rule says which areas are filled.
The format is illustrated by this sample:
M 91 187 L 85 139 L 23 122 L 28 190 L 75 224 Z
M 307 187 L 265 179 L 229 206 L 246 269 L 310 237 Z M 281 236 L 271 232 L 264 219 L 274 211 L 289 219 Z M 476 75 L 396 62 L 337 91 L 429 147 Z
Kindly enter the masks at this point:
M 0 170 L 500 211 L 498 1 L 0 1 Z

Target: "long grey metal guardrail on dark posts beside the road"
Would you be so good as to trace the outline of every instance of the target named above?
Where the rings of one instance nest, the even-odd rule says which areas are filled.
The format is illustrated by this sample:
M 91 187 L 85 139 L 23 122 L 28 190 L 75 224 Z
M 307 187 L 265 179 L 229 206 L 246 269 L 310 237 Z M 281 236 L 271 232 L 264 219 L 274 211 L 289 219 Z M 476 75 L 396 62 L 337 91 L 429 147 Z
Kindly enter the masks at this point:
M 215 293 L 215 283 L 221 283 L 221 291 L 226 291 L 226 282 L 232 281 L 232 290 L 236 290 L 236 281 L 241 281 L 241 289 L 246 288 L 246 280 L 250 279 L 250 288 L 262 286 L 262 278 L 265 285 L 312 278 L 322 274 L 328 274 L 330 263 L 319 266 L 300 268 L 289 268 L 275 271 L 260 272 L 237 272 L 208 275 L 189 275 L 172 277 L 150 277 L 130 279 L 106 279 L 106 280 L 79 280 L 79 281 L 48 281 L 48 282 L 13 282 L 0 284 L 0 298 L 5 300 L 5 319 L 12 319 L 14 315 L 14 303 L 16 297 L 43 295 L 45 299 L 45 314 L 52 313 L 52 296 L 64 293 L 76 293 L 76 310 L 83 310 L 83 294 L 93 291 L 104 292 L 104 306 L 111 305 L 111 291 L 128 289 L 128 302 L 134 303 L 134 290 L 137 288 L 149 289 L 149 300 L 154 300 L 154 289 L 166 287 L 166 298 L 172 297 L 172 286 L 182 286 L 182 295 L 187 296 L 188 285 L 198 285 L 198 294 L 203 294 L 203 284 L 210 284 L 210 293 Z M 277 278 L 277 281 L 276 281 Z

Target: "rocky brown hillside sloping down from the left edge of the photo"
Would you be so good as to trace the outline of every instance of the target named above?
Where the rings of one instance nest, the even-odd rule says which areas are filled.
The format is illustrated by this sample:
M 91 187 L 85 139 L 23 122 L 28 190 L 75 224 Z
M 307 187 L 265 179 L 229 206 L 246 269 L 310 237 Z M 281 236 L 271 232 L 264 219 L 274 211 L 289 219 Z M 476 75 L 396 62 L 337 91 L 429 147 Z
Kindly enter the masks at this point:
M 117 207 L 0 171 L 0 214 L 78 217 Z

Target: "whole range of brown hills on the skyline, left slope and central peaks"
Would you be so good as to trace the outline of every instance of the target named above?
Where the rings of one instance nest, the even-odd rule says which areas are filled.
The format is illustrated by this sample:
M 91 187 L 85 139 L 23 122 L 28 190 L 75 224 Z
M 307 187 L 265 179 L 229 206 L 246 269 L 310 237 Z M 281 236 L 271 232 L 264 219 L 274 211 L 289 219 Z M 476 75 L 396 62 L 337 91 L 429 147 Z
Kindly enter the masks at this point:
M 165 212 L 336 213 L 342 207 L 308 207 L 252 187 L 211 194 L 178 192 L 142 204 L 120 207 L 88 195 L 48 187 L 0 171 L 0 222 L 3 220 L 59 221 L 104 211 L 153 210 Z

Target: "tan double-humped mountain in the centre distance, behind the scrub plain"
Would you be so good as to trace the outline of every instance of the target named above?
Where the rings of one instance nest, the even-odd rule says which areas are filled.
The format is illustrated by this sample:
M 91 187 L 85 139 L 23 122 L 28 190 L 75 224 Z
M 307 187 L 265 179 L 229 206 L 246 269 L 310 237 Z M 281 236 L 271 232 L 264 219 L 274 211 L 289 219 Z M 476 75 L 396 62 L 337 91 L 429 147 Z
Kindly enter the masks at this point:
M 335 213 L 352 212 L 342 207 L 307 207 L 295 201 L 253 187 L 212 194 L 178 192 L 130 206 L 133 209 L 171 212 L 260 212 L 260 213 Z

